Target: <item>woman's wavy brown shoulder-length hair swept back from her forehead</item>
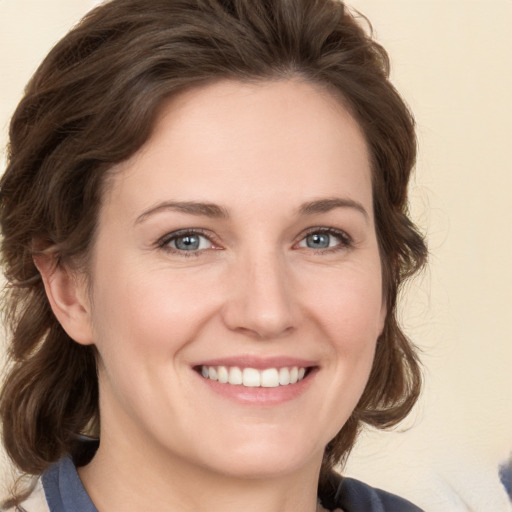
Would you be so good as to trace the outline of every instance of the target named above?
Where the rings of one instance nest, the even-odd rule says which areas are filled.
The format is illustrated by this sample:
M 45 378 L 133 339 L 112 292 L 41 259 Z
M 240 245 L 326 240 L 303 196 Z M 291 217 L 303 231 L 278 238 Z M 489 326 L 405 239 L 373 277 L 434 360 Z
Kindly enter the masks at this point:
M 34 240 L 47 241 L 57 262 L 87 255 L 109 169 L 148 139 L 170 95 L 220 79 L 299 76 L 339 91 L 372 157 L 388 313 L 369 382 L 327 446 L 322 476 L 363 423 L 386 428 L 408 414 L 421 377 L 395 306 L 426 248 L 407 216 L 414 122 L 388 75 L 384 49 L 337 0 L 112 0 L 53 48 L 12 118 L 0 183 L 11 330 L 0 414 L 23 472 L 44 471 L 99 420 L 94 347 L 73 342 L 54 317 Z

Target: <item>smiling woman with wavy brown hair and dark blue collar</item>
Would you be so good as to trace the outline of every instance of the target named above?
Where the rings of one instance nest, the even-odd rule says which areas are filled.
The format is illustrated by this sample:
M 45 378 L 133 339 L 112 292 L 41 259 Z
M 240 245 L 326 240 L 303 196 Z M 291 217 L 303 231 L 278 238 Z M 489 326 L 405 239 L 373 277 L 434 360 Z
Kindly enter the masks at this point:
M 334 0 L 112 0 L 50 52 L 1 182 L 25 510 L 418 510 L 336 476 L 420 388 L 413 120 Z

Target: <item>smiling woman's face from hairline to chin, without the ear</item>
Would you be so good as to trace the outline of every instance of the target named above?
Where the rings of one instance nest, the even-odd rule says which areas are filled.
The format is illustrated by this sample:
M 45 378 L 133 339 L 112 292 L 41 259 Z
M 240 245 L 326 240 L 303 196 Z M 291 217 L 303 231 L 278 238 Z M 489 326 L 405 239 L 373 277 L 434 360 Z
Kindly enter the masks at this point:
M 175 97 L 114 171 L 91 265 L 104 440 L 225 475 L 318 467 L 385 317 L 339 101 L 300 81 Z

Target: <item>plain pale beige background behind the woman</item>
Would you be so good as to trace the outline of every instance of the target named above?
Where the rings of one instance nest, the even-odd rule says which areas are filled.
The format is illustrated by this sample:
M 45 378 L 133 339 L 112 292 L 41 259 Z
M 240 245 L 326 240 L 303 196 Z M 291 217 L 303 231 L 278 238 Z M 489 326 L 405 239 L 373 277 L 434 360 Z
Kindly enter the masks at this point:
M 92 0 L 0 0 L 0 144 L 23 86 Z M 427 512 L 510 511 L 512 450 L 512 0 L 353 0 L 391 54 L 416 114 L 412 212 L 428 271 L 403 321 L 426 390 L 406 432 L 368 433 L 347 472 Z

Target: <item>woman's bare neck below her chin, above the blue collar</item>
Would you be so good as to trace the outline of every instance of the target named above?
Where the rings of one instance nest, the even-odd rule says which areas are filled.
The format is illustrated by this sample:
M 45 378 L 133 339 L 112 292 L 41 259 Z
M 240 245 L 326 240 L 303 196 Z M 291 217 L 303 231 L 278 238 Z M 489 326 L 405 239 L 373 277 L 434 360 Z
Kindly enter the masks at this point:
M 79 469 L 99 512 L 316 512 L 320 460 L 271 477 L 212 471 L 158 448 L 105 439 Z M 137 449 L 134 450 L 134 446 Z

